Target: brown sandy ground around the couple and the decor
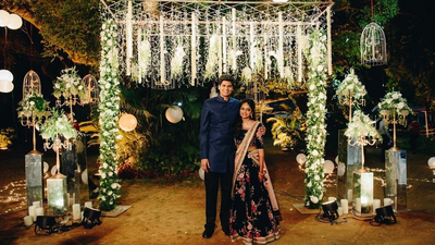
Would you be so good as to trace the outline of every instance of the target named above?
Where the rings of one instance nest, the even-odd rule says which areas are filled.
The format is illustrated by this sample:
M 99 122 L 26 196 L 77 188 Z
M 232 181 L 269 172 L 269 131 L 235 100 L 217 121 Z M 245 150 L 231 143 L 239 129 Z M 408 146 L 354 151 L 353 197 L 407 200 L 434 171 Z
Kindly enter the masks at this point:
M 51 155 L 47 155 L 51 160 Z M 296 155 L 268 143 L 266 161 L 283 215 L 282 236 L 272 244 L 431 244 L 435 241 L 435 184 L 431 181 L 435 176 L 427 168 L 431 156 L 408 156 L 410 211 L 396 213 L 396 224 L 373 226 L 357 220 L 353 215 L 347 216 L 347 222 L 331 225 L 316 221 L 315 215 L 297 211 L 293 205 L 302 203 L 304 189 L 303 172 L 298 168 Z M 369 148 L 365 156 L 369 168 L 383 168 L 377 159 L 377 148 Z M 24 155 L 0 152 L 0 168 L 3 172 L 1 186 L 23 180 Z M 382 189 L 376 185 L 380 183 L 375 183 L 375 189 Z M 124 181 L 122 186 L 121 205 L 130 205 L 132 208 L 116 218 L 103 218 L 101 225 L 35 235 L 33 228 L 23 226 L 22 218 L 26 210 L 18 210 L 0 216 L 0 244 L 243 244 L 231 243 L 220 228 L 212 238 L 201 237 L 204 187 L 199 177 L 176 183 L 133 180 Z M 335 195 L 335 187 L 327 188 L 325 196 Z M 382 195 L 375 191 L 375 198 Z

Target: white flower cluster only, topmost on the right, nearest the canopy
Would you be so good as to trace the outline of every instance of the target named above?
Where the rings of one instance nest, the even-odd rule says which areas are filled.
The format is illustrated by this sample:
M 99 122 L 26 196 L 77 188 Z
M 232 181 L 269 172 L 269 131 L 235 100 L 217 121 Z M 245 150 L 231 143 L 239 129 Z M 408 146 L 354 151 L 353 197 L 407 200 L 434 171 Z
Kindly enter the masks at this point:
M 353 98 L 359 100 L 366 95 L 365 86 L 358 79 L 353 69 L 350 69 L 349 74 L 345 76 L 345 79 L 336 90 L 336 95 L 338 96 L 338 100 L 346 105 L 351 102 Z

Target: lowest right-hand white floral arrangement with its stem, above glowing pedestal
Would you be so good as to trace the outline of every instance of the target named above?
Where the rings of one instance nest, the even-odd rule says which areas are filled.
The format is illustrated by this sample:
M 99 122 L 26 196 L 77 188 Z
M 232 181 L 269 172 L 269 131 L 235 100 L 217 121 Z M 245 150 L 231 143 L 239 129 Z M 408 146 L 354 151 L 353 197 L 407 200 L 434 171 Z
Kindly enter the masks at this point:
M 375 121 L 371 120 L 369 115 L 364 114 L 361 110 L 356 110 L 352 121 L 349 122 L 349 125 L 345 132 L 345 135 L 348 137 L 349 145 L 361 146 L 362 166 L 360 172 L 364 171 L 364 146 L 374 145 L 376 143 L 376 138 L 382 142 L 382 136 L 374 126 L 375 123 Z

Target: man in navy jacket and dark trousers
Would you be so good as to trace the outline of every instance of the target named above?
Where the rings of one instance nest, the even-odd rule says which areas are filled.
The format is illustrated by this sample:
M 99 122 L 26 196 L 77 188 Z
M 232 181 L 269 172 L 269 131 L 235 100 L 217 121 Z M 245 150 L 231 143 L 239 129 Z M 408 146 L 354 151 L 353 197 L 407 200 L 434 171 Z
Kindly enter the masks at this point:
M 234 130 L 240 101 L 231 97 L 234 77 L 219 78 L 219 96 L 207 99 L 202 107 L 200 125 L 201 168 L 206 183 L 206 225 L 203 238 L 210 238 L 215 229 L 217 191 L 221 184 L 221 226 L 229 235 L 229 208 L 234 158 Z

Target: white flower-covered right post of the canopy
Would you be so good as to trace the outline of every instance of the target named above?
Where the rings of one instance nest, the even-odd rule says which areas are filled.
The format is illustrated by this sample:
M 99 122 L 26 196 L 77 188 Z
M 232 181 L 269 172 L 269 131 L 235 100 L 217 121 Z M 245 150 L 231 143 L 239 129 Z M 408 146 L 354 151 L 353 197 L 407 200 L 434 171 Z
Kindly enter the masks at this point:
M 310 35 L 307 61 L 308 112 L 307 112 L 307 162 L 304 206 L 319 208 L 322 204 L 324 146 L 326 142 L 326 36 L 319 29 Z

